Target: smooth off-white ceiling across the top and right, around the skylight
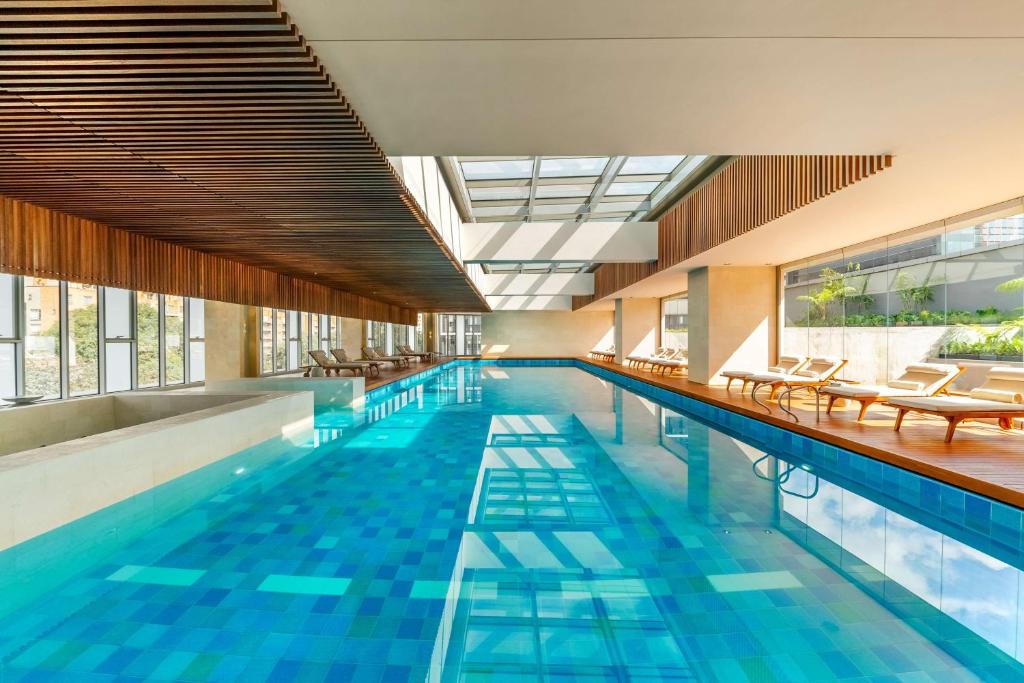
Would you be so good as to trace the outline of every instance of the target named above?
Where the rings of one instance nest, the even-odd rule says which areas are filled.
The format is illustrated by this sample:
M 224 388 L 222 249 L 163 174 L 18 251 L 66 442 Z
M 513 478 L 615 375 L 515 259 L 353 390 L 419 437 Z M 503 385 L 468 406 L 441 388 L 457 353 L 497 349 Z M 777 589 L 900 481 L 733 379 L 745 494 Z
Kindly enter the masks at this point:
M 389 155 L 894 155 L 716 262 L 1024 195 L 1020 0 L 283 2 Z

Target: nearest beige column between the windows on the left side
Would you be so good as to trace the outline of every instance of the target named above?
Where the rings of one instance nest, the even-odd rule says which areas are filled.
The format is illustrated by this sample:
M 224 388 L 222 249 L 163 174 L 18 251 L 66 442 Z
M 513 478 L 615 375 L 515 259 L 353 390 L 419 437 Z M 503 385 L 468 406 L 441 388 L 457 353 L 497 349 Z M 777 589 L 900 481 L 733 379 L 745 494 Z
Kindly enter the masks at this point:
M 259 308 L 207 301 L 206 380 L 259 377 Z

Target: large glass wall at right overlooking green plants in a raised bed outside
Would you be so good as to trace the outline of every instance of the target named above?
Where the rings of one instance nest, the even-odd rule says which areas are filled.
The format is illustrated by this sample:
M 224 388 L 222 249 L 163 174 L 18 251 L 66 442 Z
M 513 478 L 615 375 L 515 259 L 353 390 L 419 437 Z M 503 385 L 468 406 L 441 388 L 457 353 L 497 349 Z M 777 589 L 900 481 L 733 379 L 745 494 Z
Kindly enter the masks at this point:
M 782 268 L 780 349 L 847 358 L 886 382 L 914 362 L 963 362 L 968 390 L 992 365 L 1024 365 L 1024 203 Z

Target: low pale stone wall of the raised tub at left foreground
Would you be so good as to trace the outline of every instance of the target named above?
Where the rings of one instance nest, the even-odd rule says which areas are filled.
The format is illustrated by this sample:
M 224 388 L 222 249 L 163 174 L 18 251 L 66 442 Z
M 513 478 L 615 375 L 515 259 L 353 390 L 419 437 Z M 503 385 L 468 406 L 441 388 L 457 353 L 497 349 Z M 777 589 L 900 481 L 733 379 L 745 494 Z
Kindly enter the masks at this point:
M 196 396 L 195 404 L 214 400 Z M 81 409 L 88 401 L 74 402 Z M 136 408 L 135 415 L 144 412 Z M 267 439 L 305 443 L 312 426 L 310 393 L 234 395 L 221 405 L 0 457 L 0 550 Z

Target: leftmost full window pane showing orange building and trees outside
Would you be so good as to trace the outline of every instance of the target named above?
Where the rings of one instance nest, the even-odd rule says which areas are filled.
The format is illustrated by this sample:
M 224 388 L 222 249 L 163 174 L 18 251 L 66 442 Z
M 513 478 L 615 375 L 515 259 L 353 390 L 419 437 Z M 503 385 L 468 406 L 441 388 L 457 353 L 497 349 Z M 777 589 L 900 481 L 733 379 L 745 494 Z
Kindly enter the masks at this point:
M 25 393 L 60 397 L 60 283 L 25 281 Z

